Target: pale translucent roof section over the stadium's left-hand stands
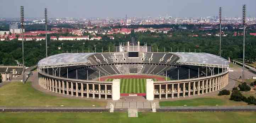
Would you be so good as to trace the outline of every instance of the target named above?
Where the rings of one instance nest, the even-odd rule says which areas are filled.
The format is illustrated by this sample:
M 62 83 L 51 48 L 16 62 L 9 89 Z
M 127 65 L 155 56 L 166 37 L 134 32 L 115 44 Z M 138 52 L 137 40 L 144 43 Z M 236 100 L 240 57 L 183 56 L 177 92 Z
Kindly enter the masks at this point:
M 95 53 L 61 53 L 44 58 L 38 62 L 39 68 L 55 68 L 88 64 L 88 57 Z

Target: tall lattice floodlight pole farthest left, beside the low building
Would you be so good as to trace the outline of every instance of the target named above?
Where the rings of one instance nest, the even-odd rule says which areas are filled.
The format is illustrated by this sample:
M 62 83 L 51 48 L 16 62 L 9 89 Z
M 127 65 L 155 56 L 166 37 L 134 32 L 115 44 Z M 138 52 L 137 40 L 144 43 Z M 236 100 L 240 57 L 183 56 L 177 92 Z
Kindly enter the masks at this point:
M 23 79 L 22 82 L 25 84 L 25 67 L 24 67 L 24 6 L 21 6 L 21 32 L 22 32 L 22 69 L 23 69 Z

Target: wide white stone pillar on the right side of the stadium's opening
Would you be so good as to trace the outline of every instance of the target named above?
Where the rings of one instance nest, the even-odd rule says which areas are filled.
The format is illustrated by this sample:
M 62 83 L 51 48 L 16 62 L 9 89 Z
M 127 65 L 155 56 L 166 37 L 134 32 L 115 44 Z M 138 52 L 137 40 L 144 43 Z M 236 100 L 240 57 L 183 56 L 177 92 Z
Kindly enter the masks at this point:
M 146 99 L 154 100 L 154 81 L 151 79 L 146 79 Z

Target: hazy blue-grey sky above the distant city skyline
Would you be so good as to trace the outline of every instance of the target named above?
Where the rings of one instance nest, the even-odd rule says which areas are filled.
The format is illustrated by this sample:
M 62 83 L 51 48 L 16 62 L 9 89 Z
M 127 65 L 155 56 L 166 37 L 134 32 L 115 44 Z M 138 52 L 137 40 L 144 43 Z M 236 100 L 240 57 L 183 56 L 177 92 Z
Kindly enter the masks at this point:
M 255 17 L 256 0 L 1 0 L 1 17 L 20 17 L 24 6 L 25 17 L 173 17 L 223 16 L 241 17 L 242 5 L 247 5 L 247 17 Z

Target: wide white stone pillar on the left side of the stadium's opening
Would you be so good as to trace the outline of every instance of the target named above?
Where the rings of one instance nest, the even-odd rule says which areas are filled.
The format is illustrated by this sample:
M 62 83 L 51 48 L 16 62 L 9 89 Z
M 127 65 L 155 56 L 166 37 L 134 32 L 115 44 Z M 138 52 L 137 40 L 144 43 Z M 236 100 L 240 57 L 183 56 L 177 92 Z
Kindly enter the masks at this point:
M 120 80 L 113 80 L 112 82 L 112 99 L 120 99 Z

